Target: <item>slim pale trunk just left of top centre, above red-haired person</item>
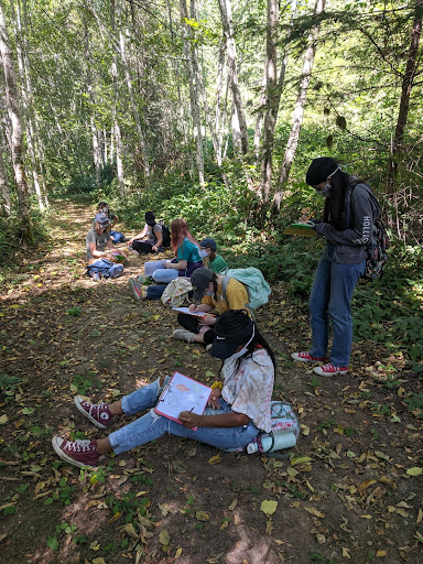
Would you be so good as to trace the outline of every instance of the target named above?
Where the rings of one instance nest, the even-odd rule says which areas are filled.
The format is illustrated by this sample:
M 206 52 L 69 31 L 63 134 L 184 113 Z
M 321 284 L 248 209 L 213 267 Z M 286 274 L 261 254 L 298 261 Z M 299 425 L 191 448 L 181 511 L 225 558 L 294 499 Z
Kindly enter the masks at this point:
M 188 19 L 188 12 L 186 8 L 186 0 L 180 0 L 181 21 L 184 37 L 184 58 L 186 62 L 186 74 L 189 84 L 189 102 L 191 113 L 193 116 L 193 130 L 194 141 L 196 147 L 196 163 L 198 170 L 198 181 L 204 184 L 204 153 L 203 153 L 203 137 L 202 137 L 202 120 L 200 109 L 198 100 L 198 83 L 193 69 L 193 62 L 191 55 L 189 45 L 189 29 L 185 20 Z

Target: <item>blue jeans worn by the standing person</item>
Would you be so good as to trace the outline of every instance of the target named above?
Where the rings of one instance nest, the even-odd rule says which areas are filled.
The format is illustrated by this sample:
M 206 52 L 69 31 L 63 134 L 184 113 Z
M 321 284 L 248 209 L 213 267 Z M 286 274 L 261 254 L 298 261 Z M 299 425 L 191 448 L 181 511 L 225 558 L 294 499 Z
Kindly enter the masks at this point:
M 313 347 L 310 354 L 323 358 L 327 355 L 329 319 L 334 334 L 330 362 L 347 367 L 352 345 L 351 297 L 365 272 L 366 261 L 358 264 L 334 262 L 335 246 L 328 243 L 314 274 L 310 295 Z

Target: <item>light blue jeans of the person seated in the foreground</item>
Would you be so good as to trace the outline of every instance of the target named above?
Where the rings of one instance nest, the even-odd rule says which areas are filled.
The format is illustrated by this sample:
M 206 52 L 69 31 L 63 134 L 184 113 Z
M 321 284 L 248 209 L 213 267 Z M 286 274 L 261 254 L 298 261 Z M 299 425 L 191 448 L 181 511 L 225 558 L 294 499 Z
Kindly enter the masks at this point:
M 171 377 L 166 377 L 165 383 Z M 162 392 L 159 379 L 122 398 L 122 410 L 126 415 L 153 408 Z M 206 408 L 206 415 L 218 415 L 231 412 L 231 408 L 220 399 L 220 409 Z M 110 445 L 116 454 L 124 453 L 137 446 L 144 445 L 164 434 L 185 436 L 206 443 L 217 448 L 241 448 L 259 434 L 259 429 L 251 422 L 240 427 L 197 427 L 197 431 L 184 427 L 171 419 L 158 415 L 152 409 L 142 417 L 109 435 Z

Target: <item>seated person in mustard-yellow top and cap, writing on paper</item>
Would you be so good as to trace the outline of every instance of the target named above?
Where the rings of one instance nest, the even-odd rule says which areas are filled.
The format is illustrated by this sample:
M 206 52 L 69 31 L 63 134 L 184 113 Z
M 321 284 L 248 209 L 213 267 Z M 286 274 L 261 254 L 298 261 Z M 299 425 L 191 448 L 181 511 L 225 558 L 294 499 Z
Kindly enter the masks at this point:
M 174 339 L 186 340 L 186 343 L 203 343 L 210 345 L 216 336 L 215 324 L 218 319 L 212 315 L 213 310 L 217 310 L 221 315 L 228 310 L 247 310 L 249 300 L 246 286 L 236 280 L 229 279 L 226 292 L 223 290 L 223 274 L 215 274 L 212 270 L 202 268 L 193 272 L 191 283 L 194 288 L 194 301 L 202 303 L 199 305 L 191 304 L 191 312 L 203 312 L 203 317 L 193 316 L 185 313 L 177 315 L 177 321 L 183 329 L 175 329 L 172 334 Z

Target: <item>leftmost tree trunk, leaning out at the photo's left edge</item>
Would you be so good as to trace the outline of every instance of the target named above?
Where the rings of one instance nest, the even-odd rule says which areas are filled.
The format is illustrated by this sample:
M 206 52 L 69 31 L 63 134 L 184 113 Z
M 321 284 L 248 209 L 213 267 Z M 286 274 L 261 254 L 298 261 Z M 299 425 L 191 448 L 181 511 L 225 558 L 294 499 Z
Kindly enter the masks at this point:
M 18 193 L 18 213 L 22 224 L 22 236 L 29 242 L 33 241 L 30 220 L 30 197 L 23 165 L 23 133 L 19 112 L 19 95 L 13 69 L 12 52 L 9 47 L 9 35 L 6 26 L 3 6 L 0 2 L 0 54 L 3 65 L 6 84 L 6 106 L 11 123 L 11 149 L 14 178 Z

